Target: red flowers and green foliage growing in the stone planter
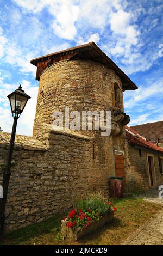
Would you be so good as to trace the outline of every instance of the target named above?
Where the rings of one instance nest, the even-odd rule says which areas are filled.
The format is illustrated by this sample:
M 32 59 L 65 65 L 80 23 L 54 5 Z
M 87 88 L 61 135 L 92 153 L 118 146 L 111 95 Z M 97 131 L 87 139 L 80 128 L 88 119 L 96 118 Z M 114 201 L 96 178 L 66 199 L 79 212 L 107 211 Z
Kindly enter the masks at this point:
M 64 220 L 68 228 L 87 228 L 93 221 L 99 221 L 106 212 L 114 215 L 117 209 L 102 193 L 93 193 L 85 200 L 78 200 L 73 209 Z

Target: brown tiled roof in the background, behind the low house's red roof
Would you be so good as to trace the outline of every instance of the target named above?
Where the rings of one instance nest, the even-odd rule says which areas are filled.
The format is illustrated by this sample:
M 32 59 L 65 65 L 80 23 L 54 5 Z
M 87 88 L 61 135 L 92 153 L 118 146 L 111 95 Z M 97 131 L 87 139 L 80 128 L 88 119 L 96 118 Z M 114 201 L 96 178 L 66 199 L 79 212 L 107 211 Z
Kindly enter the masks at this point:
M 131 128 L 153 143 L 163 143 L 163 121 L 135 125 Z

